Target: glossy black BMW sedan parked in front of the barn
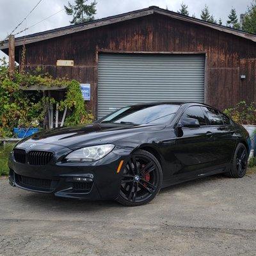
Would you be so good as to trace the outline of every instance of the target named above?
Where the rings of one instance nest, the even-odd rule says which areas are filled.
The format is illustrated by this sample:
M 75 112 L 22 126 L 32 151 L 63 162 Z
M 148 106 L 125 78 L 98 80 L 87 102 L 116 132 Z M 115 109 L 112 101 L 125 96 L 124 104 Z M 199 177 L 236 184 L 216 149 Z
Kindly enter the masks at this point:
M 198 177 L 246 173 L 250 137 L 218 109 L 157 102 L 119 109 L 90 125 L 38 132 L 10 154 L 10 184 L 124 205 Z

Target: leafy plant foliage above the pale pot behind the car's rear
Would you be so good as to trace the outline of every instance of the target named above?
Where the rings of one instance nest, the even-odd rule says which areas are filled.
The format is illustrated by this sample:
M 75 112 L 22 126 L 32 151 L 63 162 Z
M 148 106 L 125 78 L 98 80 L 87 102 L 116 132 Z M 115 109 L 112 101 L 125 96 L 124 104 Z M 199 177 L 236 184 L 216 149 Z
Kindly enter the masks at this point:
M 234 108 L 225 109 L 224 113 L 230 116 L 235 122 L 239 124 L 256 124 L 256 104 L 246 104 L 241 101 L 236 104 Z

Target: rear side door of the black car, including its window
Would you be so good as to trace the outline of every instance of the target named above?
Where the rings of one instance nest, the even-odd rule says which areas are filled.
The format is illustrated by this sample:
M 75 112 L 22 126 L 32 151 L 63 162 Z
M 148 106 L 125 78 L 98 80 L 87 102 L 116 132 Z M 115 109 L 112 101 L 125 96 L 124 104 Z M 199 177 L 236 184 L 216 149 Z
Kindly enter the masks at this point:
M 209 119 L 211 132 L 214 134 L 214 151 L 217 157 L 214 164 L 220 166 L 220 168 L 225 167 L 230 163 L 237 142 L 232 121 L 217 109 L 202 108 Z

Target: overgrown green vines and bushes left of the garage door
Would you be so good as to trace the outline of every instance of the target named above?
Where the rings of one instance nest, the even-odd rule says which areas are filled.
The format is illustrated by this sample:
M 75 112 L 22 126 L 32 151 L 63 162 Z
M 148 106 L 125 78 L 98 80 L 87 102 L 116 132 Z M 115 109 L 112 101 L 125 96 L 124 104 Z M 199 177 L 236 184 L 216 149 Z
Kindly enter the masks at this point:
M 60 100 L 58 110 L 66 107 L 70 115 L 65 125 L 87 124 L 92 122 L 93 116 L 87 113 L 80 85 L 75 80 L 65 78 L 54 79 L 42 70 L 35 70 L 34 74 L 20 74 L 17 70 L 10 79 L 8 65 L 0 60 L 0 137 L 13 135 L 13 127 L 43 127 L 43 121 L 48 113 L 49 104 L 56 103 L 53 97 L 43 95 L 42 91 L 24 91 L 29 86 L 67 86 L 65 98 Z

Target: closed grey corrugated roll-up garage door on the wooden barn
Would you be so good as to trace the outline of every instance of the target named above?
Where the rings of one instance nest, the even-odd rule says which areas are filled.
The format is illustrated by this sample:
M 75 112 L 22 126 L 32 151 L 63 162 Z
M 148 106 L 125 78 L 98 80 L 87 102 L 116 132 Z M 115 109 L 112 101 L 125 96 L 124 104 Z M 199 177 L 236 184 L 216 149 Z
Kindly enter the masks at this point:
M 196 54 L 99 54 L 98 117 L 143 102 L 204 102 L 204 68 Z

